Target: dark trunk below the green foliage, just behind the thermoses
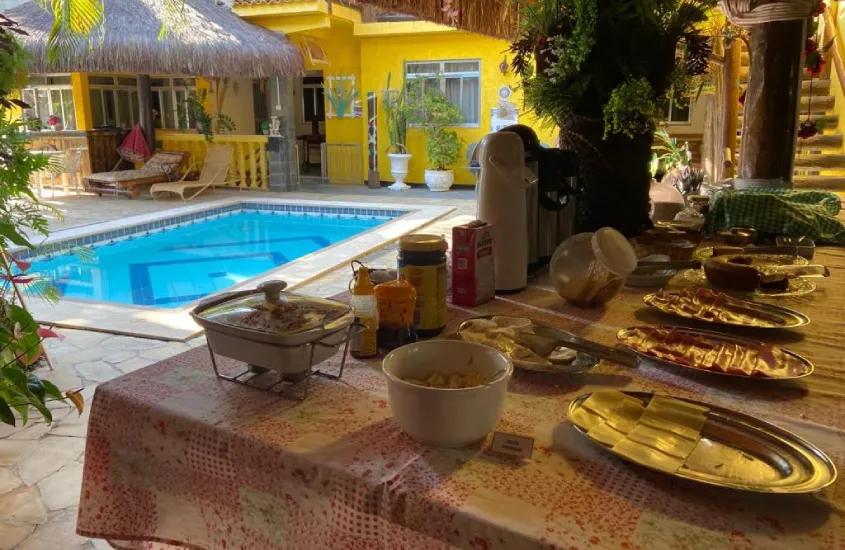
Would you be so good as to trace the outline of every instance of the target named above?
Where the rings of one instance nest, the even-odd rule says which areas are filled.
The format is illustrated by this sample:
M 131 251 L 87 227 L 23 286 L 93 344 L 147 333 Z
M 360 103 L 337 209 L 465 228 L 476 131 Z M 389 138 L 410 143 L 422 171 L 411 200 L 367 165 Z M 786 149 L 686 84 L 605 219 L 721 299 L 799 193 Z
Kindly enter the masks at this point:
M 561 124 L 562 149 L 578 155 L 579 232 L 613 227 L 626 237 L 639 235 L 652 227 L 649 219 L 649 187 L 653 136 L 634 139 L 614 134 L 604 139 L 601 119 L 569 117 Z

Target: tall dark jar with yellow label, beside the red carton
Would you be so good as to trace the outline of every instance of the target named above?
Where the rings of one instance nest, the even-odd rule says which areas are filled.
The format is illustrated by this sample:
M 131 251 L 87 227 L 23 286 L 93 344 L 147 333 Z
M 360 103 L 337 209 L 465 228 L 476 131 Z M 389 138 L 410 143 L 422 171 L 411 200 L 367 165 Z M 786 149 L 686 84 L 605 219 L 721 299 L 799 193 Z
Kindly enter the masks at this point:
M 446 327 L 446 239 L 440 235 L 406 235 L 399 239 L 399 275 L 417 291 L 414 328 L 417 336 L 437 336 Z

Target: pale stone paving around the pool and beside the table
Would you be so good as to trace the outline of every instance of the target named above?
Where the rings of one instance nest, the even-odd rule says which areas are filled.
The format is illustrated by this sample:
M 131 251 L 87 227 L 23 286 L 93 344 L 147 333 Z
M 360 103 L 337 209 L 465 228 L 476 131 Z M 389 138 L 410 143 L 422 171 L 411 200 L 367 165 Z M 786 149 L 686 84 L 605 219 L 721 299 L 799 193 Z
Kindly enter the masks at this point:
M 224 193 L 209 195 L 219 199 Z M 250 194 L 249 196 L 257 196 Z M 279 195 L 274 195 L 278 197 Z M 434 194 L 414 189 L 405 193 L 372 191 L 366 188 L 318 186 L 286 198 L 331 200 L 366 199 L 372 202 L 414 202 L 448 204 L 457 209 L 422 232 L 446 235 L 451 240 L 454 225 L 471 221 L 475 215 L 474 194 L 458 191 Z M 64 215 L 51 229 L 67 229 L 125 216 L 132 216 L 180 203 L 173 201 L 126 200 L 98 197 L 58 197 L 52 202 Z M 393 266 L 396 246 L 391 245 L 364 258 L 369 265 Z M 332 296 L 347 288 L 349 271 L 329 273 L 298 292 Z M 129 338 L 81 330 L 64 330 L 63 342 L 50 341 L 47 349 L 54 369 L 37 374 L 62 389 L 84 388 L 90 403 L 97 384 L 144 368 L 156 361 L 205 344 L 203 337 L 188 343 Z M 77 503 L 82 480 L 88 412 L 82 416 L 64 406 L 51 407 L 53 423 L 31 422 L 23 428 L 0 424 L 0 550 L 74 550 L 110 548 L 101 540 L 75 534 Z

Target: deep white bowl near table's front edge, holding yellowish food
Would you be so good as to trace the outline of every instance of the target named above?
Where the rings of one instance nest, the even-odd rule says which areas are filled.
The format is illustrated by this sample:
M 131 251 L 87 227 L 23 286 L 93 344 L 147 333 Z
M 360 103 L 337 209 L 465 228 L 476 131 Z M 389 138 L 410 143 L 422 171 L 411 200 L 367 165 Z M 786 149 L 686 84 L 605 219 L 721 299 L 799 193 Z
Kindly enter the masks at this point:
M 460 340 L 430 340 L 402 346 L 384 358 L 393 418 L 412 438 L 437 447 L 463 447 L 493 431 L 505 406 L 510 359 L 493 348 Z M 404 378 L 434 373 L 479 373 L 489 382 L 465 389 L 427 388 Z

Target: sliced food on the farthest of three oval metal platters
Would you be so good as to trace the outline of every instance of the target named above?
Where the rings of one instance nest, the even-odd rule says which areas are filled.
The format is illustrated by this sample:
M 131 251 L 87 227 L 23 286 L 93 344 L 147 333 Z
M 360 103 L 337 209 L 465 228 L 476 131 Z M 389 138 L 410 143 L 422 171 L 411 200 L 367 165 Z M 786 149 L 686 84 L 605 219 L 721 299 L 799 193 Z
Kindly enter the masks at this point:
M 751 302 L 717 294 L 709 288 L 660 291 L 646 296 L 645 302 L 665 313 L 698 321 L 767 328 L 786 325 L 782 317 L 757 309 Z

